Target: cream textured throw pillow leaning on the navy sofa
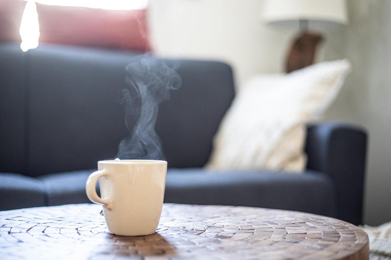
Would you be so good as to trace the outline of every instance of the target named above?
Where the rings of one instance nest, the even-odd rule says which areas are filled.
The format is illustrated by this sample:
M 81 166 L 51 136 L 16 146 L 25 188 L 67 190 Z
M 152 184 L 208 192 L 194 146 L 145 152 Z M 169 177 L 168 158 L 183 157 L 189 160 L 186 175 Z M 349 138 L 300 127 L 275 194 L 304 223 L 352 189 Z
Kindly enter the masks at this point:
M 250 80 L 221 121 L 206 167 L 302 171 L 306 124 L 334 101 L 349 69 L 345 59 Z

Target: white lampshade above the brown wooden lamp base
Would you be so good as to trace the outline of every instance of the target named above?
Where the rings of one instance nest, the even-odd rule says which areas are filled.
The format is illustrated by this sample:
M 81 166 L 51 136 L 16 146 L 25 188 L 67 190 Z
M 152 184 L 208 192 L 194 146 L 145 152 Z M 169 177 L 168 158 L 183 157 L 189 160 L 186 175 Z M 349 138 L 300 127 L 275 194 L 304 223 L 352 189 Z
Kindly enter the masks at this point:
M 267 24 L 299 27 L 308 21 L 310 30 L 328 31 L 348 23 L 345 0 L 265 0 Z

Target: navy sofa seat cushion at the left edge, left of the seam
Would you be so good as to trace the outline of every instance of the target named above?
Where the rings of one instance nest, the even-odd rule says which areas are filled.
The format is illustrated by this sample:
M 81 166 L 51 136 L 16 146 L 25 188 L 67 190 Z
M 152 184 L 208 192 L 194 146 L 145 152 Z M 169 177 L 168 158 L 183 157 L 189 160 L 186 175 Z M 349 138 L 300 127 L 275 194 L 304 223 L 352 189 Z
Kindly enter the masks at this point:
M 45 188 L 36 178 L 0 173 L 0 210 L 45 206 Z

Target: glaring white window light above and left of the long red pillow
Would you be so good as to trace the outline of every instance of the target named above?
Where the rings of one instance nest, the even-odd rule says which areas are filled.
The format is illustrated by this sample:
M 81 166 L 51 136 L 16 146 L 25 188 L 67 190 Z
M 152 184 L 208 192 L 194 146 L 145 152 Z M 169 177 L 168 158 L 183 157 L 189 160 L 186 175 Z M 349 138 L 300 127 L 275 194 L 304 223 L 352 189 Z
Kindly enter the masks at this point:
M 36 4 L 65 5 L 100 8 L 108 10 L 133 10 L 147 6 L 148 0 L 28 0 L 20 24 L 20 36 L 22 43 L 20 48 L 23 52 L 38 47 L 39 23 Z

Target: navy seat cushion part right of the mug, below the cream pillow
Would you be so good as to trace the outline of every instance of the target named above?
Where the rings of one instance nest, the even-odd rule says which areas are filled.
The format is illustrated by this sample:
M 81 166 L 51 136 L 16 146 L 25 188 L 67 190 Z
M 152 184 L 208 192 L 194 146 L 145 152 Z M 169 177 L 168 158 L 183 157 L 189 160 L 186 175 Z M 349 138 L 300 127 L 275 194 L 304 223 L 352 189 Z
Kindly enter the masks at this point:
M 165 202 L 199 205 L 236 205 L 296 210 L 335 217 L 336 194 L 323 173 L 224 171 L 201 168 L 170 169 Z

